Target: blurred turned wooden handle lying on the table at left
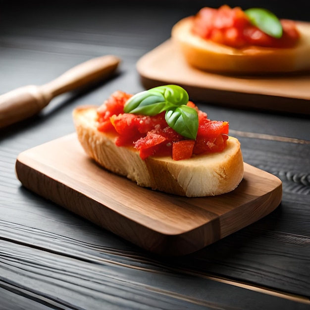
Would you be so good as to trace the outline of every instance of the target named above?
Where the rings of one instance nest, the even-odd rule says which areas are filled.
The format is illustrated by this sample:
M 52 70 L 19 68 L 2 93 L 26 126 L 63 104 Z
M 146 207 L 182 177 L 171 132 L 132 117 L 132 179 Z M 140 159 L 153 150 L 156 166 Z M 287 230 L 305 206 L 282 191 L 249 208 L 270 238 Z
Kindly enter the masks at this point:
M 47 84 L 28 85 L 1 95 L 0 128 L 37 114 L 60 94 L 107 78 L 119 62 L 120 59 L 113 55 L 93 58 Z

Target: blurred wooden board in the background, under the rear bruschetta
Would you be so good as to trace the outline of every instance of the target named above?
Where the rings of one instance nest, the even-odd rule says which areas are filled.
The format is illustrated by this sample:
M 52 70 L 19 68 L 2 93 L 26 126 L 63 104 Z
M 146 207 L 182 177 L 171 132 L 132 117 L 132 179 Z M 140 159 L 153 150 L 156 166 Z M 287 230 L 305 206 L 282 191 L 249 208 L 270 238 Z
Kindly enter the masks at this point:
M 204 72 L 189 66 L 171 39 L 142 56 L 137 70 L 146 89 L 178 84 L 193 101 L 310 114 L 310 73 L 255 77 Z

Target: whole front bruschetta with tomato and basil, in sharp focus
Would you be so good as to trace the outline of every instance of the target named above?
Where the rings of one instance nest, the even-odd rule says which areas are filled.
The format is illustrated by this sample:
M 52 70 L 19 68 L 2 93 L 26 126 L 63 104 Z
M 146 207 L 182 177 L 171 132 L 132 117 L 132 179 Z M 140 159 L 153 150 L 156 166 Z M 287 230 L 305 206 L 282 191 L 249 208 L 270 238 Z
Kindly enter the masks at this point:
M 135 96 L 116 91 L 101 106 L 75 108 L 73 120 L 83 149 L 103 168 L 152 190 L 187 197 L 233 191 L 243 178 L 240 142 L 228 135 L 228 122 L 208 119 L 186 95 L 180 98 L 180 89 L 167 85 Z M 177 106 L 167 107 L 167 101 Z M 125 112 L 128 106 L 136 112 Z M 153 112 L 146 112 L 146 106 Z M 172 123 L 184 121 L 186 116 L 177 117 L 178 107 L 186 112 L 189 107 L 197 115 L 187 120 L 198 121 L 194 137 L 191 129 L 171 124 L 166 116 L 176 113 Z

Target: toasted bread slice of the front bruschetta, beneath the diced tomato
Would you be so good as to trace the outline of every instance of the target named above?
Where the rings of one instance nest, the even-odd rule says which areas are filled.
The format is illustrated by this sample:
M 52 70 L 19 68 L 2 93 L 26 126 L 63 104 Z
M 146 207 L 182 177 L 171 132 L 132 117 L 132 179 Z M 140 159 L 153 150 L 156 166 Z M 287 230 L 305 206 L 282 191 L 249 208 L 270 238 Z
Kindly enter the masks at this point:
M 133 147 L 117 147 L 116 135 L 97 130 L 95 106 L 73 111 L 78 139 L 86 154 L 105 169 L 138 185 L 188 197 L 220 195 L 234 190 L 243 178 L 240 143 L 229 137 L 221 153 L 185 160 L 151 156 L 142 160 Z

